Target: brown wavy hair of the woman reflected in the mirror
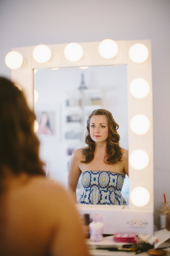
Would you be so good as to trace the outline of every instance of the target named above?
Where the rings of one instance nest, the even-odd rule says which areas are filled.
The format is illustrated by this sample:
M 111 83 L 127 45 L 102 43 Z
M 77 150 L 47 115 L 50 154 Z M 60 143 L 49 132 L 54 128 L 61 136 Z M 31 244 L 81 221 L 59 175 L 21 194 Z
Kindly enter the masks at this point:
M 94 158 L 95 153 L 95 142 L 91 139 L 90 136 L 90 119 L 95 115 L 104 115 L 107 117 L 108 124 L 108 137 L 106 139 L 106 155 L 104 156 L 104 162 L 109 164 L 118 163 L 122 157 L 122 151 L 119 144 L 120 136 L 117 132 L 119 125 L 116 124 L 115 120 L 112 117 L 112 114 L 105 109 L 96 109 L 94 110 L 87 120 L 87 133 L 85 138 L 85 143 L 88 145 L 87 148 L 82 149 L 83 157 L 85 158 L 82 163 L 89 163 Z

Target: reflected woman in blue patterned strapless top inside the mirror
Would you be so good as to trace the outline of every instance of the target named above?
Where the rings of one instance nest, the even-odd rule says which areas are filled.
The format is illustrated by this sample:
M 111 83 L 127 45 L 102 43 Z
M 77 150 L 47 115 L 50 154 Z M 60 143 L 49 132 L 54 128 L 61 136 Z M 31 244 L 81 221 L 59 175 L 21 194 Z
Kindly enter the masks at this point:
M 94 110 L 87 120 L 85 143 L 72 154 L 68 170 L 68 189 L 77 204 L 126 205 L 121 190 L 128 175 L 128 151 L 120 147 L 120 136 L 112 114 Z M 77 201 L 76 187 L 82 174 L 83 193 Z

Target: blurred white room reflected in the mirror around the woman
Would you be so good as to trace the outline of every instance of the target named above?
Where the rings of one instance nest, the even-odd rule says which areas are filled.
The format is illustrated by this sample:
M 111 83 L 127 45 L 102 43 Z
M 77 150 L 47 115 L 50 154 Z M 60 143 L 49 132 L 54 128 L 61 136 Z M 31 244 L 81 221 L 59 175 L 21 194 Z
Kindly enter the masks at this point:
M 103 108 L 112 113 L 119 125 L 120 146 L 128 149 L 126 65 L 38 69 L 34 78 L 34 89 L 38 93 L 34 109 L 39 122 L 40 156 L 49 163 L 50 178 L 67 186 L 71 154 L 86 146 L 86 122 L 94 109 Z M 86 89 L 80 90 L 80 87 Z M 79 179 L 77 198 L 82 191 Z M 127 176 L 122 195 L 128 204 Z

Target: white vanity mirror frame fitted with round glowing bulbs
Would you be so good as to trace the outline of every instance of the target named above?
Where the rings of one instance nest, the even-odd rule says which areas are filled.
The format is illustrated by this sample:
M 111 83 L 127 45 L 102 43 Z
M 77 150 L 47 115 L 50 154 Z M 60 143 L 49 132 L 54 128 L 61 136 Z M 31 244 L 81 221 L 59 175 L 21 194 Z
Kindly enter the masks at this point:
M 103 43 L 103 42 L 102 42 Z M 24 61 L 12 69 L 12 80 L 23 87 L 29 106 L 33 108 L 33 69 L 82 66 L 127 65 L 128 141 L 129 141 L 129 206 L 79 205 L 83 213 L 103 215 L 104 233 L 135 231 L 153 233 L 153 111 L 150 40 L 115 41 L 116 51 L 102 52 L 100 42 L 76 44 L 79 56 L 68 56 L 72 44 L 48 45 L 47 62 L 32 57 L 35 46 L 15 48 Z M 74 45 L 75 46 L 75 45 Z M 105 48 L 108 50 L 107 48 Z M 114 48 L 115 49 L 115 48 Z M 74 50 L 74 52 L 78 52 Z M 142 52 L 143 51 L 143 52 Z M 136 59 L 141 57 L 141 59 Z M 43 63 L 42 63 L 43 62 Z M 138 219 L 135 226 L 134 220 Z M 108 221 L 109 220 L 109 221 Z M 142 225 L 139 225 L 139 222 Z M 140 222 L 140 223 L 141 223 Z M 141 230 L 142 229 L 142 230 Z

